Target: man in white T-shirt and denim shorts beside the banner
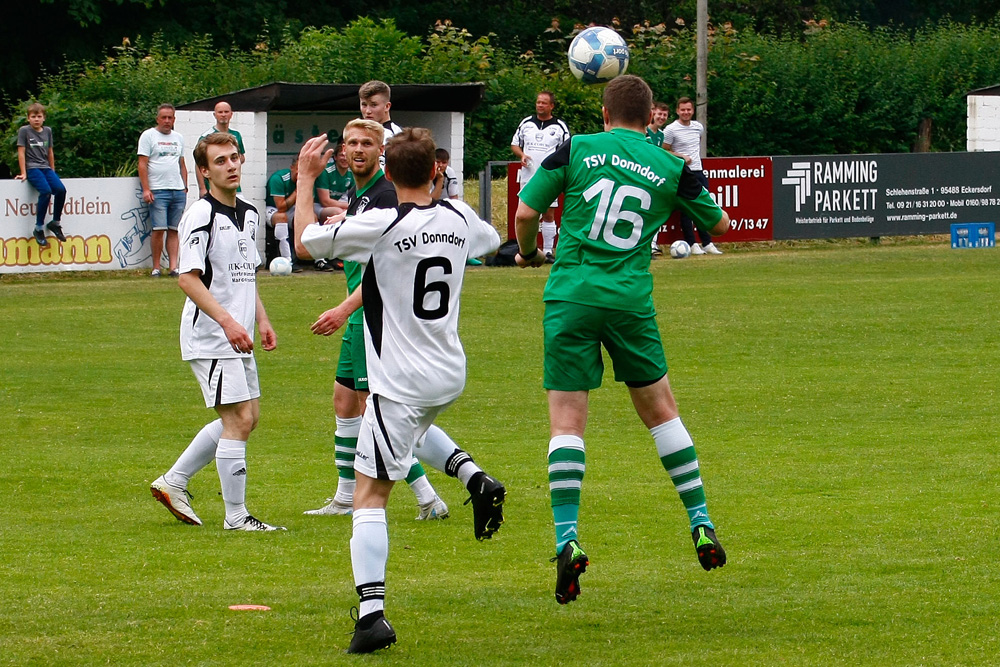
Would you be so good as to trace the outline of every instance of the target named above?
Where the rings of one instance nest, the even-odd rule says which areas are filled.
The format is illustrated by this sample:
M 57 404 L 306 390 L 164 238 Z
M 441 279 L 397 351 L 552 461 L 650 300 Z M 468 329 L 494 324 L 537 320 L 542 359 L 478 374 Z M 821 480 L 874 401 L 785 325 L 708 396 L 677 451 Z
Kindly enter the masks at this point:
M 161 104 L 156 110 L 156 127 L 139 136 L 139 183 L 142 200 L 149 204 L 153 224 L 153 271 L 160 277 L 163 235 L 167 237 L 170 275 L 177 276 L 177 226 L 187 204 L 187 166 L 184 164 L 184 137 L 174 132 L 174 105 Z

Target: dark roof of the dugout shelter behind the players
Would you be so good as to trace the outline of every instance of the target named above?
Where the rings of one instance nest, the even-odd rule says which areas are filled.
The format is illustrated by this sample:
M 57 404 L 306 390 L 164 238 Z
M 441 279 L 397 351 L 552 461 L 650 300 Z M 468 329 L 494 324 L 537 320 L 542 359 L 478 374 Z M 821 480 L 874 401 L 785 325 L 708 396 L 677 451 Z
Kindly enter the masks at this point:
M 178 109 L 212 111 L 223 100 L 233 111 L 354 111 L 360 85 L 279 81 L 189 102 Z M 408 83 L 392 86 L 396 111 L 469 112 L 483 100 L 482 83 Z

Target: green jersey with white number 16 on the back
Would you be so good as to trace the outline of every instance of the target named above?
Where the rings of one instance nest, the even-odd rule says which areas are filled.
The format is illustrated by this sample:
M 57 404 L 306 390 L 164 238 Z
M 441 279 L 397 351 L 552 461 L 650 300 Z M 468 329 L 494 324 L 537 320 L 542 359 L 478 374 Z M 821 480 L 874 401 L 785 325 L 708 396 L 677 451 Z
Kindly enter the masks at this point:
M 572 137 L 519 196 L 544 211 L 561 192 L 559 252 L 545 301 L 651 312 L 649 246 L 663 221 L 675 209 L 706 230 L 722 218 L 684 160 L 623 128 Z

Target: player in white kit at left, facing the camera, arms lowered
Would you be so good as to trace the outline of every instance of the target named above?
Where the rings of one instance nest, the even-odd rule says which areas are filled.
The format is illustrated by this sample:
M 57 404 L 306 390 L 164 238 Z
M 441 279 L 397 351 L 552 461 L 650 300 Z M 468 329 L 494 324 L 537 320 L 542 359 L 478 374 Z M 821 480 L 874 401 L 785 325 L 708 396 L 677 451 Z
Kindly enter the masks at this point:
M 247 438 L 260 415 L 254 324 L 265 350 L 277 346 L 255 281 L 260 216 L 236 197 L 241 162 L 235 137 L 221 132 L 204 137 L 194 158 L 199 175 L 209 181 L 209 194 L 191 205 L 178 231 L 177 282 L 187 295 L 181 314 L 181 358 L 190 362 L 205 406 L 215 408 L 219 419 L 202 428 L 150 491 L 180 521 L 200 526 L 188 502 L 187 484 L 215 459 L 226 505 L 223 528 L 284 530 L 253 517 L 245 503 Z

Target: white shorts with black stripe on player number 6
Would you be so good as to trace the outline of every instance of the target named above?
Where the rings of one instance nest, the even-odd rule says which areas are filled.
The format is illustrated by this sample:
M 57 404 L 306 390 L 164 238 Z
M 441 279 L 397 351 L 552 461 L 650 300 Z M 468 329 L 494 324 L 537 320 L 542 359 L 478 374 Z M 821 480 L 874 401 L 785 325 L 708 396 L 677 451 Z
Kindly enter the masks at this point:
M 354 470 L 373 479 L 406 479 L 413 464 L 413 447 L 449 405 L 403 405 L 369 394 Z

